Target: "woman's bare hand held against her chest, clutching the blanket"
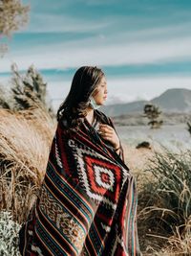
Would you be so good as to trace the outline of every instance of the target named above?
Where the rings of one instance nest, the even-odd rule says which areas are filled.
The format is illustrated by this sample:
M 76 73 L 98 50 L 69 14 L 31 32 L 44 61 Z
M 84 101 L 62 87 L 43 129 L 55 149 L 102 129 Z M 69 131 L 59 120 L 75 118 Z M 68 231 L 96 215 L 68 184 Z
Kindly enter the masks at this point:
M 99 124 L 98 133 L 103 139 L 110 141 L 115 149 L 119 148 L 120 142 L 114 128 L 111 128 L 108 125 Z

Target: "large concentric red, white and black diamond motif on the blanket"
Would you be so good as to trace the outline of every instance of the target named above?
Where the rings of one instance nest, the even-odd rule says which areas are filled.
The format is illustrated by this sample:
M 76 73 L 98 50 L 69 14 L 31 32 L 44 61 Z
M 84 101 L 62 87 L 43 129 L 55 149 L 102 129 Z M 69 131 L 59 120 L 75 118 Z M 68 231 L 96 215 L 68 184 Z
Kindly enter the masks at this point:
M 98 200 L 113 209 L 123 184 L 121 167 L 101 154 L 74 145 L 79 183 L 82 183 L 88 197 Z

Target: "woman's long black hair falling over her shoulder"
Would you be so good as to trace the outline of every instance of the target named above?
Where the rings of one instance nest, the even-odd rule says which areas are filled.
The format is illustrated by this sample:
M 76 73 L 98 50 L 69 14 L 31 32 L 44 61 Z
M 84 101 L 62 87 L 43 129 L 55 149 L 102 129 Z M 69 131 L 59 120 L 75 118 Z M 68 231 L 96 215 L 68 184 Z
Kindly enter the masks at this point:
M 96 66 L 82 66 L 74 74 L 71 89 L 65 101 L 57 110 L 57 121 L 62 121 L 65 129 L 77 130 L 90 105 L 90 96 L 96 92 L 97 84 L 104 76 Z

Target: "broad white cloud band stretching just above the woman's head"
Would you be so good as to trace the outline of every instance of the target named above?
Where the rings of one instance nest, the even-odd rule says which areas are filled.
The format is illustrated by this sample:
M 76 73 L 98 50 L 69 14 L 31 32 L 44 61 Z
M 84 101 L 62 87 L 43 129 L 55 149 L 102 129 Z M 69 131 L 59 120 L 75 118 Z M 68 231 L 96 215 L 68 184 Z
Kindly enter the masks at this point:
M 30 50 L 9 53 L 1 60 L 1 72 L 9 71 L 15 61 L 19 69 L 32 63 L 36 68 L 67 68 L 84 64 L 149 64 L 191 58 L 191 36 L 148 41 L 107 41 L 100 36 L 52 45 L 34 45 Z

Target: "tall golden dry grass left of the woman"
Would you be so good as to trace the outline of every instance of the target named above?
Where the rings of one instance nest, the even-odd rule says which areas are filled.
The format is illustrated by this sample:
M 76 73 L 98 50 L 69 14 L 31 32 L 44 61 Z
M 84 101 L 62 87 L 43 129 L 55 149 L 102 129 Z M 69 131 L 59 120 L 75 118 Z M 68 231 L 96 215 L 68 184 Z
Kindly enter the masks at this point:
M 55 122 L 43 109 L 0 110 L 0 210 L 26 220 L 45 174 Z

